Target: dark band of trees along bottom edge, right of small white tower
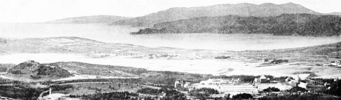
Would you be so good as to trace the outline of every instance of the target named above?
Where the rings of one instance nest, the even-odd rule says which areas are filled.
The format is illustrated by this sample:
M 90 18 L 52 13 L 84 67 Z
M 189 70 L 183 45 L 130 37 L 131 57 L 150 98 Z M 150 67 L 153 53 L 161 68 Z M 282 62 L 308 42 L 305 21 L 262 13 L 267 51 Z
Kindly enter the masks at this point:
M 96 93 L 89 95 L 70 95 L 71 98 L 82 98 L 84 100 L 138 100 L 138 94 L 125 92 Z

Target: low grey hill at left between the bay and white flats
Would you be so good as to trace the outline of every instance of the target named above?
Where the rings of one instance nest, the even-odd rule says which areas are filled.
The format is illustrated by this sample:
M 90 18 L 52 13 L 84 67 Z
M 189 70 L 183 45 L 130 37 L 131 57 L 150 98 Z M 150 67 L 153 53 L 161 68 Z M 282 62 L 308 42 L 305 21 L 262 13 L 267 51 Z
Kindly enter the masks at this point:
M 7 40 L 0 43 L 0 54 L 14 53 L 132 53 L 148 50 L 147 47 L 120 44 L 103 43 L 95 40 L 78 37 L 53 37 L 53 38 L 29 38 Z M 138 50 L 134 50 L 138 49 Z

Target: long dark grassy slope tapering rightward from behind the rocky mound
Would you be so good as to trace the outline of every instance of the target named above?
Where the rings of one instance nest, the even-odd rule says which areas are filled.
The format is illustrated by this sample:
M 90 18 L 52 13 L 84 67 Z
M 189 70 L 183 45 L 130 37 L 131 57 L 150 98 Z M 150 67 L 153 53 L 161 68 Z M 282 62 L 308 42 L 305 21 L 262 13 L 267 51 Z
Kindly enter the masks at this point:
M 60 66 L 63 69 L 77 71 L 82 74 L 96 74 L 96 75 L 112 75 L 112 76 L 137 76 L 141 77 L 142 81 L 153 84 L 173 84 L 176 79 L 186 79 L 189 81 L 200 81 L 208 78 L 205 74 L 187 73 L 187 72 L 173 72 L 173 71 L 148 71 L 141 68 L 98 65 L 83 62 L 56 62 L 48 65 Z M 110 71 L 112 72 L 110 72 Z M 114 71 L 114 72 L 113 72 Z

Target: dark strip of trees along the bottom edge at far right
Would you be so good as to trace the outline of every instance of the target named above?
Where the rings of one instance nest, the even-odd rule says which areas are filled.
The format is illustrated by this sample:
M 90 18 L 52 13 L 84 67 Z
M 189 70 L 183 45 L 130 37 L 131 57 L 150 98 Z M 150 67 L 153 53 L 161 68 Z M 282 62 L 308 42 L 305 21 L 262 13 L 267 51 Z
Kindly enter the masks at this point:
M 285 96 L 264 96 L 258 100 L 340 100 L 340 97 L 327 96 L 322 94 L 285 95 Z

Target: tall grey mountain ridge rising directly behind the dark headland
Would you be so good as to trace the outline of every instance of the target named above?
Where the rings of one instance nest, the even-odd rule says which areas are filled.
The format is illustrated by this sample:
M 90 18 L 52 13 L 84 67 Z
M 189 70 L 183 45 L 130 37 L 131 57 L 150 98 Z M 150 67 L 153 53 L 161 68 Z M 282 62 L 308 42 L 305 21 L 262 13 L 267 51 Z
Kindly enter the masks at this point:
M 133 27 L 152 27 L 154 24 L 188 19 L 202 16 L 221 16 L 221 15 L 240 15 L 240 16 L 277 16 L 280 14 L 320 14 L 307 9 L 299 4 L 272 4 L 264 3 L 260 5 L 239 3 L 239 4 L 218 4 L 202 7 L 178 7 L 170 8 L 165 11 L 120 20 L 112 25 L 130 25 Z

